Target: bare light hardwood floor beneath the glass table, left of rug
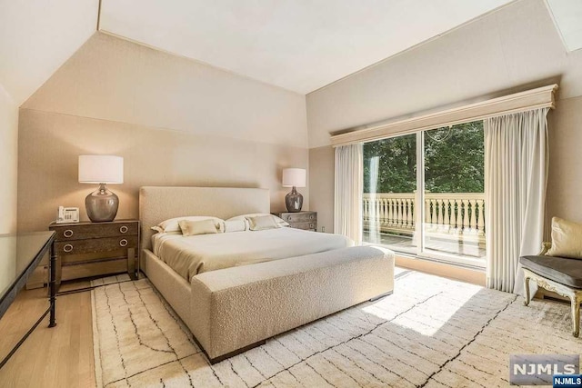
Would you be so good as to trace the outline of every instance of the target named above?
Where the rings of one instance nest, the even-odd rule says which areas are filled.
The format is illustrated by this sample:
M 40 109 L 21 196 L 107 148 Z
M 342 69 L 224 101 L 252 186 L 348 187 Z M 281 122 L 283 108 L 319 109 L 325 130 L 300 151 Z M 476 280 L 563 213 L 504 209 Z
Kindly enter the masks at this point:
M 60 295 L 56 303 L 56 326 L 49 329 L 45 317 L 0 369 L 0 387 L 95 387 L 91 293 Z M 45 288 L 18 295 L 0 320 L 0 357 L 46 306 Z

